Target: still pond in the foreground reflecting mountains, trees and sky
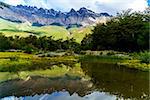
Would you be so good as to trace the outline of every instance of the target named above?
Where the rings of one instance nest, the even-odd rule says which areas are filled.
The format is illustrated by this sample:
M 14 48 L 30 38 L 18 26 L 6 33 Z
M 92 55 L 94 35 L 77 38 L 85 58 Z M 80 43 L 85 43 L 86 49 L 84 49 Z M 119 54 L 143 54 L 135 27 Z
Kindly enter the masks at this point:
M 2 100 L 148 100 L 149 72 L 117 64 L 81 61 L 50 69 L 23 71 L 25 79 L 0 83 Z M 17 73 L 18 74 L 18 73 Z

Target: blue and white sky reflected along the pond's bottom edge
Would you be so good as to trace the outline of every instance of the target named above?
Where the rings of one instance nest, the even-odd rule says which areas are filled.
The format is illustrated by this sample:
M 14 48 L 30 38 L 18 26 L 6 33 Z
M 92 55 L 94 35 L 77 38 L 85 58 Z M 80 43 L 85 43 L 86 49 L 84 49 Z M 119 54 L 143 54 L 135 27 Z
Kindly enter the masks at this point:
M 42 94 L 42 95 L 35 95 L 35 96 L 26 96 L 26 97 L 7 97 L 5 99 L 11 99 L 11 100 L 116 100 L 115 96 L 109 96 L 105 93 L 100 92 L 93 92 L 89 95 L 86 95 L 84 97 L 80 97 L 77 93 L 74 93 L 72 95 L 69 94 L 69 92 L 54 92 L 52 94 Z

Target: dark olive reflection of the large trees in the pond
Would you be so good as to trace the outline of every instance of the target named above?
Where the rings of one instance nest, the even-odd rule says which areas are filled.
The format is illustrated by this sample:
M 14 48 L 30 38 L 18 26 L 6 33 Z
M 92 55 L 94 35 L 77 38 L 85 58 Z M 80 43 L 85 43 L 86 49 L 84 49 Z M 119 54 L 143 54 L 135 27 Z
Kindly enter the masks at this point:
M 100 91 L 123 98 L 149 96 L 148 72 L 98 62 L 82 62 L 81 68 Z

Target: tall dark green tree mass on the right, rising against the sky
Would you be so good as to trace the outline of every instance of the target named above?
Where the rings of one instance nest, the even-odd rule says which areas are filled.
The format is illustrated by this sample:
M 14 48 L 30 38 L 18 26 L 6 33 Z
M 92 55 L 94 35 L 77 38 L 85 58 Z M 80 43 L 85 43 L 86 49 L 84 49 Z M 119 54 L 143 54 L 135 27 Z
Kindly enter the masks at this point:
M 147 17 L 124 11 L 105 24 L 98 24 L 92 34 L 94 50 L 139 51 L 149 48 Z

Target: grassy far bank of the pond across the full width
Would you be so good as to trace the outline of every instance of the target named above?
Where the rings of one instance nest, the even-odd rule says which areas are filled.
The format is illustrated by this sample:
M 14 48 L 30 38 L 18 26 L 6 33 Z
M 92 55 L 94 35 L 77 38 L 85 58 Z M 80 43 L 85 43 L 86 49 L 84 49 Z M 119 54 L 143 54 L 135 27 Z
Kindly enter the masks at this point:
M 115 63 L 123 67 L 149 71 L 150 63 L 147 62 L 149 54 L 149 52 L 135 54 L 116 51 L 85 51 L 81 52 L 81 55 L 75 55 L 73 53 L 35 55 L 22 52 L 0 52 L 0 72 L 46 70 L 50 69 L 53 65 L 60 66 L 64 64 L 70 66 L 80 60 Z

